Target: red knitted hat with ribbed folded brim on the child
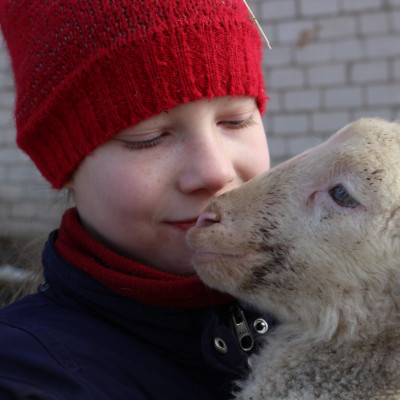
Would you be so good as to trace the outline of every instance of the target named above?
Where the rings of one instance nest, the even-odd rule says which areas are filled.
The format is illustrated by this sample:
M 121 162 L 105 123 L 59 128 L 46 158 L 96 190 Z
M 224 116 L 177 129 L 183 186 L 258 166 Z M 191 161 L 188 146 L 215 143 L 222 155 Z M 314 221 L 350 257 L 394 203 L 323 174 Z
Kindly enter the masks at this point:
M 261 39 L 242 0 L 0 0 L 17 143 L 55 188 L 121 129 L 178 104 L 249 95 Z

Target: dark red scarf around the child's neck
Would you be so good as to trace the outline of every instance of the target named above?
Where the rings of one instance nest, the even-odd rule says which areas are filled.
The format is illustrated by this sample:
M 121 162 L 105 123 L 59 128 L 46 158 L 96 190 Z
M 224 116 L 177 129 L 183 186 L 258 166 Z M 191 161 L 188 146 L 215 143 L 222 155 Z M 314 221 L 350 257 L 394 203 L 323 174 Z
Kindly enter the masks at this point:
M 232 300 L 207 288 L 198 277 L 159 271 L 107 249 L 84 230 L 75 208 L 64 214 L 55 246 L 68 263 L 109 289 L 146 304 L 205 307 Z

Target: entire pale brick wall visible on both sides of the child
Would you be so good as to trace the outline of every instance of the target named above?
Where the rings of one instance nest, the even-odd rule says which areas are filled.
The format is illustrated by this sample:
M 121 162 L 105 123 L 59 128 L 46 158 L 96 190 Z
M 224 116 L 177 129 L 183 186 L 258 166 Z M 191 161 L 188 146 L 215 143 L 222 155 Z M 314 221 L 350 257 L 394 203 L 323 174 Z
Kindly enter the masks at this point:
M 264 117 L 272 164 L 361 116 L 400 119 L 400 0 L 248 0 L 267 34 Z M 37 234 L 67 206 L 16 149 L 0 40 L 0 236 Z

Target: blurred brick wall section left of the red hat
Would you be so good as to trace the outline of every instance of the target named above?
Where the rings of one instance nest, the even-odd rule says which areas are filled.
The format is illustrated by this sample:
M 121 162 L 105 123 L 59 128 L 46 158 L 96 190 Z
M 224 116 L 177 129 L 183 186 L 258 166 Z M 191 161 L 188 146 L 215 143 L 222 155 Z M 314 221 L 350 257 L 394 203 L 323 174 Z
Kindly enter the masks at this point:
M 15 145 L 14 96 L 0 36 L 0 237 L 29 237 L 55 227 L 66 202 Z

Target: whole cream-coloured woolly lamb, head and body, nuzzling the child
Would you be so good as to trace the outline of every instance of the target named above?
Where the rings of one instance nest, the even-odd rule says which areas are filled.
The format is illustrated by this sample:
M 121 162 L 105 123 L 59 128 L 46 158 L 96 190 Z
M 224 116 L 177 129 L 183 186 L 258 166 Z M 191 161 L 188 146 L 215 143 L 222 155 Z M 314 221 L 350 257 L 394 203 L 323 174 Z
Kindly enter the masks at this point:
M 272 312 L 238 400 L 400 399 L 400 124 L 363 118 L 215 199 L 210 287 Z

